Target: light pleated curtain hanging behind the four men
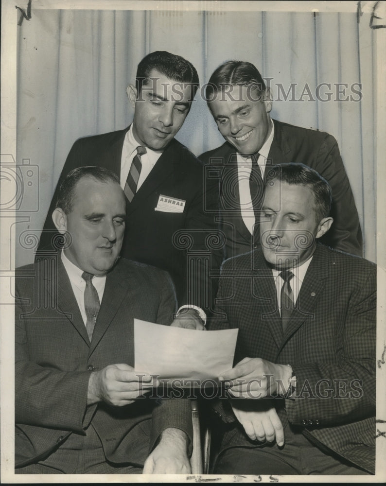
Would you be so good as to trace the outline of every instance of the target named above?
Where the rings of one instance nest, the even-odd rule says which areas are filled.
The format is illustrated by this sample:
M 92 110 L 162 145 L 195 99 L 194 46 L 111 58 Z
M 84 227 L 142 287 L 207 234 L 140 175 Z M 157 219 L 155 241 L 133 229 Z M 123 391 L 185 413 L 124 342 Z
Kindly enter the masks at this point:
M 140 59 L 156 50 L 189 59 L 201 84 L 228 59 L 250 61 L 269 78 L 273 118 L 331 133 L 354 192 L 365 256 L 375 261 L 376 66 L 368 20 L 364 14 L 358 24 L 354 13 L 35 10 L 18 27 L 17 162 L 38 166 L 39 193 L 29 221 L 17 225 L 17 265 L 33 261 L 34 244 L 23 238 L 27 229 L 39 236 L 72 143 L 130 123 L 126 87 Z M 324 100 L 333 93 L 330 101 L 316 98 L 321 83 L 331 85 L 320 89 Z M 336 101 L 338 83 L 347 83 L 340 97 L 348 101 Z M 361 101 L 353 83 L 362 85 Z M 196 155 L 223 143 L 200 95 L 176 138 Z

